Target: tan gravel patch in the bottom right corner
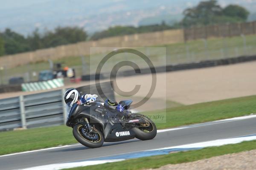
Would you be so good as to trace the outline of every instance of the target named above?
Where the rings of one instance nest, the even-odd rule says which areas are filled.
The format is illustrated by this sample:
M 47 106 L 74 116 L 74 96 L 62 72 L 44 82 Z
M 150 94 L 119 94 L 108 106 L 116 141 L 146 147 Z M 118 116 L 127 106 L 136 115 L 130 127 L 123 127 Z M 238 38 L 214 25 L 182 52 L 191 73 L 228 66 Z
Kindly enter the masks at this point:
M 255 170 L 255 157 L 256 150 L 250 150 L 150 170 Z

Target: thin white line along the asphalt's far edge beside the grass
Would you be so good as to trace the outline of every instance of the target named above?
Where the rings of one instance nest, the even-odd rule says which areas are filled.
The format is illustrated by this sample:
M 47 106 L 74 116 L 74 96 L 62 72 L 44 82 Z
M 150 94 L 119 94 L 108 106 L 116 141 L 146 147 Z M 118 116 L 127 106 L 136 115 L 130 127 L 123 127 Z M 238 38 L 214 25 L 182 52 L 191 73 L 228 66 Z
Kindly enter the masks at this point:
M 213 122 L 218 122 L 218 123 L 224 123 L 223 121 L 236 121 L 236 120 L 242 120 L 242 119 L 250 119 L 250 118 L 255 118 L 256 115 L 252 114 L 249 116 L 240 116 L 240 117 L 234 117 L 234 118 L 230 118 L 230 119 L 222 119 L 222 120 L 216 120 Z M 216 124 L 218 124 L 216 123 Z M 214 124 L 209 124 L 209 125 L 214 125 Z M 198 126 L 192 126 L 192 127 L 201 127 L 201 126 L 208 126 L 208 125 L 198 125 Z M 162 133 L 162 132 L 168 132 L 168 131 L 172 131 L 172 130 L 180 130 L 180 129 L 186 129 L 186 128 L 192 128 L 192 127 L 177 127 L 177 128 L 171 128 L 171 129 L 161 129 L 161 130 L 157 130 L 157 133 Z M 76 145 L 80 145 L 80 144 L 71 144 L 71 145 L 64 145 L 64 146 L 58 146 L 58 147 L 49 147 L 49 148 L 45 148 L 45 149 L 38 149 L 38 150 L 30 150 L 30 151 L 25 151 L 25 152 L 19 152 L 19 153 L 11 153 L 11 154 L 7 154 L 7 155 L 2 155 L 0 157 L 3 156 L 13 156 L 13 155 L 18 155 L 18 154 L 23 154 L 23 153 L 33 153 L 33 152 L 40 152 L 40 151 L 44 151 L 44 150 L 52 150 L 52 149 L 59 149 L 59 148 L 64 148 L 64 147 L 70 147 L 70 146 L 76 146 Z

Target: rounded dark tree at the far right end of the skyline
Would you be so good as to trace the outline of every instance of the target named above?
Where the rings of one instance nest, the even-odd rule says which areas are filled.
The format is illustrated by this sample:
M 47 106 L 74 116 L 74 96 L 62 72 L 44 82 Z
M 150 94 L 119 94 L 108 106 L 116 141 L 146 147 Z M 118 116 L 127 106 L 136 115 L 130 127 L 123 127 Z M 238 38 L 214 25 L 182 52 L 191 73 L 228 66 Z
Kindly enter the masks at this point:
M 246 21 L 250 12 L 242 6 L 229 5 L 223 9 L 223 14 L 229 17 L 239 17 L 242 21 Z

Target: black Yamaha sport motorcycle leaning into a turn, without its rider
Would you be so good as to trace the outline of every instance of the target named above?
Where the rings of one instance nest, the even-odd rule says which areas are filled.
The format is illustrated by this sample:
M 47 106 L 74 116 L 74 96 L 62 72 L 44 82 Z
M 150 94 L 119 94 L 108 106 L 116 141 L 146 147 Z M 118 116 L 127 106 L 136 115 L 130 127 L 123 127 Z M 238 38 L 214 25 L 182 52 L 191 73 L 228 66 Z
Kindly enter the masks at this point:
M 132 102 L 119 102 L 125 108 L 122 113 L 105 107 L 101 101 L 90 106 L 74 104 L 68 111 L 66 125 L 73 128 L 73 136 L 79 143 L 90 148 L 101 147 L 103 142 L 153 139 L 156 125 L 148 117 L 128 111 Z

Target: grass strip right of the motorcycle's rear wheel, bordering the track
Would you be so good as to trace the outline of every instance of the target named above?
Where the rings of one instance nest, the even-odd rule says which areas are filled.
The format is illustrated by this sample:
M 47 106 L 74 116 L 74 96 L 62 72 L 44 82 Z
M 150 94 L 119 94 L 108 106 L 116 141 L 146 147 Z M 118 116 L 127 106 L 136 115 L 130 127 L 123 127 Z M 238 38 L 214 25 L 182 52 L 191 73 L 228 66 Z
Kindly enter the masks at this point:
M 154 120 L 157 128 L 163 129 L 256 113 L 255 103 L 256 96 L 246 96 L 169 108 L 166 111 L 154 111 L 147 115 L 165 116 L 166 120 Z

